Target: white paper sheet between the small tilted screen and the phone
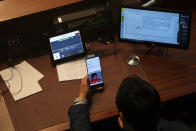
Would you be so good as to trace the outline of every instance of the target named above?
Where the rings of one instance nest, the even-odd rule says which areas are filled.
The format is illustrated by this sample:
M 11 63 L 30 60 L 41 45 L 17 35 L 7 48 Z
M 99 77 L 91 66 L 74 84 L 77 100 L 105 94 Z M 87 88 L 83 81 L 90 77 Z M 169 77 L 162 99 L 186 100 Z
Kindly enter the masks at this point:
M 81 79 L 87 74 L 85 59 L 66 62 L 56 68 L 59 81 Z

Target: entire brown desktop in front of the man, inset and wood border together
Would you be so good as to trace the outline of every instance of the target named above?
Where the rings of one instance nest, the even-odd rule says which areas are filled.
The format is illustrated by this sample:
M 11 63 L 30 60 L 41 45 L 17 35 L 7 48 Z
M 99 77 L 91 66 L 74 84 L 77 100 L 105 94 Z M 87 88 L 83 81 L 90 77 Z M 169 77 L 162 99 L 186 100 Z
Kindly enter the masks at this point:
M 93 42 L 93 50 L 107 51 L 108 54 L 105 54 L 101 61 L 106 90 L 93 97 L 91 121 L 117 115 L 115 95 L 121 80 L 127 75 L 137 74 L 150 81 L 159 91 L 162 101 L 196 92 L 195 21 L 196 11 L 193 11 L 190 49 L 169 49 L 168 56 L 158 56 L 156 50 L 146 55 L 144 46 L 120 42 L 115 43 L 119 51 L 115 55 L 111 53 L 111 46 Z M 133 54 L 139 55 L 142 61 L 137 67 L 126 64 L 126 58 Z M 11 94 L 4 96 L 16 130 L 68 129 L 67 111 L 79 91 L 80 80 L 59 83 L 56 70 L 50 66 L 48 55 L 27 61 L 45 75 L 39 82 L 43 92 L 17 102 L 14 102 Z M 118 75 L 113 75 L 114 73 Z

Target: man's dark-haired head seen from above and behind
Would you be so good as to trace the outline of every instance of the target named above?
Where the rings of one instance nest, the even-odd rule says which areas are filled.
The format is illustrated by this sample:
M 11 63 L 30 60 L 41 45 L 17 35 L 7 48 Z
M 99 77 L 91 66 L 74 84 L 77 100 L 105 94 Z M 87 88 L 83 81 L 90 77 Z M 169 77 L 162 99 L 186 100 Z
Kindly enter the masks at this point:
M 116 104 L 120 112 L 119 124 L 125 130 L 157 130 L 160 96 L 151 84 L 135 76 L 125 78 Z

